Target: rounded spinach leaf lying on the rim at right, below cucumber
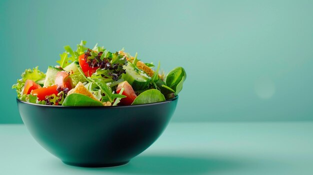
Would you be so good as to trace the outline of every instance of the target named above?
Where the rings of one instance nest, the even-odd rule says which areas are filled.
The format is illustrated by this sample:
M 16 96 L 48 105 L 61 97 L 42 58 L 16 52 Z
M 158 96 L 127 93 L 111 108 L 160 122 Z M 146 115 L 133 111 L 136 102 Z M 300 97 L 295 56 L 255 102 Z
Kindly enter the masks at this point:
M 164 95 L 157 89 L 149 89 L 139 94 L 131 105 L 156 103 L 165 101 Z

